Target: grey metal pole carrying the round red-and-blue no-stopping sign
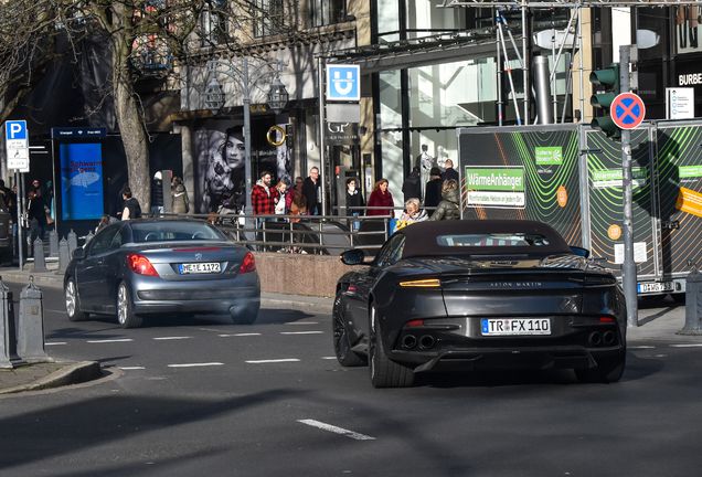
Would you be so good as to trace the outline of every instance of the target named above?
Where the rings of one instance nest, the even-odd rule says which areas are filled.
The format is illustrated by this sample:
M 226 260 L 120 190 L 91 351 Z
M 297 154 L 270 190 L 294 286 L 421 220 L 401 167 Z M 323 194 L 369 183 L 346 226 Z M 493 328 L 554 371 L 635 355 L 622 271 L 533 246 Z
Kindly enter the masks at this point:
M 619 46 L 619 84 L 621 92 L 629 92 L 629 45 Z M 631 130 L 621 130 L 621 168 L 624 172 L 624 264 L 621 286 L 627 304 L 627 326 L 639 326 L 636 263 L 634 262 L 634 211 L 631 191 Z

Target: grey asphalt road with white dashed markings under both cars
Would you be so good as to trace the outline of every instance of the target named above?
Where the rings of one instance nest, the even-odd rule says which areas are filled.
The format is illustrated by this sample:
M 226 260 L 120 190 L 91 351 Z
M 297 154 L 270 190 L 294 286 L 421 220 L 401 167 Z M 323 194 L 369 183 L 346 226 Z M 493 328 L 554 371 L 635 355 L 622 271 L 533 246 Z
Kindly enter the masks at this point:
M 19 287 L 8 284 L 19 295 Z M 0 475 L 689 476 L 702 456 L 702 348 L 630 343 L 616 384 L 570 371 L 374 390 L 332 358 L 329 315 L 262 310 L 70 322 L 43 288 L 46 350 L 105 379 L 0 399 Z

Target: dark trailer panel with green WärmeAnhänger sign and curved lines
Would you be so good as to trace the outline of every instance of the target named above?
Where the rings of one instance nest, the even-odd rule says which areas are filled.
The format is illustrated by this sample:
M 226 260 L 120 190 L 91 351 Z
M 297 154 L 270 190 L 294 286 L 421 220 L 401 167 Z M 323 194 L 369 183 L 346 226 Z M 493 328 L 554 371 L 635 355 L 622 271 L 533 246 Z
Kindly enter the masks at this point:
M 582 245 L 574 126 L 461 129 L 464 219 L 535 220 Z

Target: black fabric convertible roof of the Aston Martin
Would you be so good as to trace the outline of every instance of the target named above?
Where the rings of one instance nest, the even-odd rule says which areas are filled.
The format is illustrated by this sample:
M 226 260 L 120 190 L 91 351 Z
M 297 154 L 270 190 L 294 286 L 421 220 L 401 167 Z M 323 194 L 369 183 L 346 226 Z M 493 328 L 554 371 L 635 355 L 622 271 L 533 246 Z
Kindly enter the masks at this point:
M 426 221 L 401 229 L 405 235 L 403 258 L 447 255 L 503 255 L 508 254 L 562 254 L 573 253 L 563 237 L 550 225 L 535 221 L 459 220 Z M 446 246 L 439 245 L 442 235 L 460 234 L 535 234 L 549 240 L 547 245 L 525 246 Z

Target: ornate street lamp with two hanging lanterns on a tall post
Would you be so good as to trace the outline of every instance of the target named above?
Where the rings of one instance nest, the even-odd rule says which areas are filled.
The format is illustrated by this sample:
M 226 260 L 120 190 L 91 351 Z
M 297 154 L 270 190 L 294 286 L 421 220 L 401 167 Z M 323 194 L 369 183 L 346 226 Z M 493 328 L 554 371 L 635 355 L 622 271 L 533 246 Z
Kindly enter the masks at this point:
M 264 76 L 275 74 L 276 77 L 270 84 L 270 91 L 268 92 L 268 106 L 276 114 L 280 113 L 288 102 L 288 92 L 285 89 L 285 85 L 280 82 L 280 71 L 284 63 L 279 60 L 264 63 L 256 66 L 251 73 L 248 71 L 248 59 L 244 56 L 244 63 L 241 68 L 219 60 L 208 61 L 208 70 L 212 73 L 212 81 L 205 89 L 205 106 L 216 115 L 217 110 L 224 106 L 224 93 L 222 92 L 222 85 L 216 80 L 216 74 L 222 73 L 225 76 L 231 77 L 236 82 L 242 95 L 244 96 L 244 151 L 246 156 L 246 214 L 253 213 L 253 205 L 251 202 L 251 93 L 258 82 Z M 275 66 L 275 70 L 264 71 L 267 66 Z M 251 219 L 246 220 L 246 227 L 251 225 Z

